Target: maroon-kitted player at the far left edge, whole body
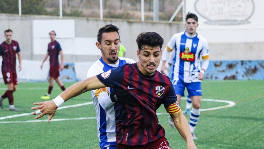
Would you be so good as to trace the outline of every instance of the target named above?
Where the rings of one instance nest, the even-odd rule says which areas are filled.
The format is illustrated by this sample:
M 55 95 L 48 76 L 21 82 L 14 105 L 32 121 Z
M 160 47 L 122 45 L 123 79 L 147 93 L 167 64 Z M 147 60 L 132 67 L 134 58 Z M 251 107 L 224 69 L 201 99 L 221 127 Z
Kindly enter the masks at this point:
M 0 55 L 3 57 L 2 74 L 4 84 L 7 85 L 7 91 L 0 97 L 0 107 L 3 109 L 3 100 L 4 98 L 8 98 L 9 111 L 17 111 L 17 109 L 14 107 L 13 92 L 16 91 L 18 84 L 16 76 L 16 54 L 19 61 L 18 71 L 20 71 L 22 69 L 21 52 L 18 42 L 12 40 L 13 31 L 11 29 L 6 29 L 4 31 L 4 36 L 6 40 L 0 45 Z

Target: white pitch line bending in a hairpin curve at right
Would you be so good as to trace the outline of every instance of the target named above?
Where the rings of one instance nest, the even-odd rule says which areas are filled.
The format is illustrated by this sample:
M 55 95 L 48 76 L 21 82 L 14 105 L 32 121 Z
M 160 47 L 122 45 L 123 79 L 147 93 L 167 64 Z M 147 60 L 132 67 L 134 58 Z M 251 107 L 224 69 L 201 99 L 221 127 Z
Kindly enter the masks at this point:
M 186 98 L 182 98 L 183 100 L 186 100 Z M 217 109 L 222 109 L 222 108 L 227 108 L 227 107 L 232 107 L 235 105 L 235 102 L 233 101 L 227 101 L 227 100 L 217 100 L 217 99 L 202 99 L 202 101 L 213 101 L 213 102 L 224 102 L 224 103 L 228 103 L 228 105 L 225 106 L 220 106 L 220 107 L 213 107 L 213 108 L 207 108 L 207 109 L 201 109 L 201 111 L 208 111 L 208 110 L 217 110 Z M 71 106 L 64 106 L 64 107 L 59 107 L 59 109 L 65 109 L 65 108 L 69 108 L 69 107 L 78 107 L 78 106 L 82 106 L 82 105 L 88 105 L 88 104 L 92 104 L 93 102 L 86 102 L 83 104 L 74 104 Z M 32 113 L 23 113 L 23 114 L 17 114 L 17 115 L 31 115 Z M 157 115 L 164 115 L 164 114 L 168 114 L 168 113 L 156 113 Z M 17 115 L 13 115 L 13 117 L 18 117 Z M 8 117 L 8 116 L 5 116 Z M 8 117 L 8 118 L 13 118 L 13 117 Z M 3 117 L 0 117 L 0 120 Z M 4 118 L 6 119 L 6 118 Z M 96 119 L 96 117 L 80 117 L 80 118 L 72 118 L 72 119 L 52 119 L 51 121 L 63 121 L 63 120 L 87 120 L 87 119 Z M 27 121 L 5 121 L 5 122 L 0 122 L 0 124 L 3 123 L 34 123 L 34 122 L 47 122 L 47 120 L 27 120 Z

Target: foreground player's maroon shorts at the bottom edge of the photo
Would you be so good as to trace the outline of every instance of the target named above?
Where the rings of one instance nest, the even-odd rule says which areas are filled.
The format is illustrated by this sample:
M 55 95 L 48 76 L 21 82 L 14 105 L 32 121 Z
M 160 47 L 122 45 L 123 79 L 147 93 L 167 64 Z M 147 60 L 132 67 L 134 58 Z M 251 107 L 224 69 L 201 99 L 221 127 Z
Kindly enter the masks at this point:
M 146 145 L 128 146 L 125 144 L 116 144 L 116 148 L 117 149 L 171 149 L 169 142 L 167 141 L 165 136 Z

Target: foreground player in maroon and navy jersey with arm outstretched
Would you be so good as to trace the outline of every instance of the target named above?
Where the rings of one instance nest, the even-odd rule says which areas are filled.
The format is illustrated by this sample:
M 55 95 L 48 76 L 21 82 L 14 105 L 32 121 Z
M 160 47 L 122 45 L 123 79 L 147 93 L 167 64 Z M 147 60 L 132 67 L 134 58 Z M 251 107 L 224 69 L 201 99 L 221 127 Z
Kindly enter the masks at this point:
M 111 101 L 116 102 L 114 106 L 118 149 L 170 149 L 165 138 L 165 130 L 158 124 L 156 115 L 161 104 L 164 105 L 175 127 L 187 142 L 187 149 L 196 149 L 170 79 L 157 71 L 161 59 L 162 37 L 155 32 L 140 33 L 137 37 L 137 45 L 138 63 L 125 64 L 78 82 L 52 101 L 34 103 L 39 106 L 31 109 L 40 110 L 32 114 L 41 113 L 35 117 L 36 119 L 49 114 L 48 122 L 50 122 L 56 109 L 64 101 L 88 90 L 109 86 L 115 88 L 116 94 L 119 94 L 119 91 L 130 93 L 127 95 L 129 100 L 111 93 L 113 95 Z

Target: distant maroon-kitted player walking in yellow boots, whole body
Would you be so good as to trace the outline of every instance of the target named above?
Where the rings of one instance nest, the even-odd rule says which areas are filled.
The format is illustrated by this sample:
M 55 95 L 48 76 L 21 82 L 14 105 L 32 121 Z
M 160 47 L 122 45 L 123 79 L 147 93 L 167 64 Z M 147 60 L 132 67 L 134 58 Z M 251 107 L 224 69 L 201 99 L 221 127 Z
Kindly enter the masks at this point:
M 50 42 L 48 45 L 48 51 L 44 57 L 44 60 L 40 66 L 40 68 L 42 69 L 43 67 L 43 63 L 47 60 L 47 58 L 49 57 L 49 89 L 48 89 L 48 93 L 44 96 L 41 96 L 41 99 L 44 100 L 49 100 L 50 99 L 50 94 L 53 88 L 53 81 L 55 80 L 58 85 L 61 87 L 61 90 L 64 91 L 65 87 L 64 84 L 62 83 L 61 79 L 59 78 L 60 73 L 59 73 L 59 69 L 63 70 L 64 69 L 64 65 L 63 65 L 63 53 L 61 50 L 61 46 L 60 44 L 55 40 L 56 37 L 56 33 L 54 30 L 52 30 L 51 32 L 49 32 L 49 38 L 50 38 Z M 58 60 L 58 55 L 61 54 L 61 65 L 59 65 L 59 60 Z

